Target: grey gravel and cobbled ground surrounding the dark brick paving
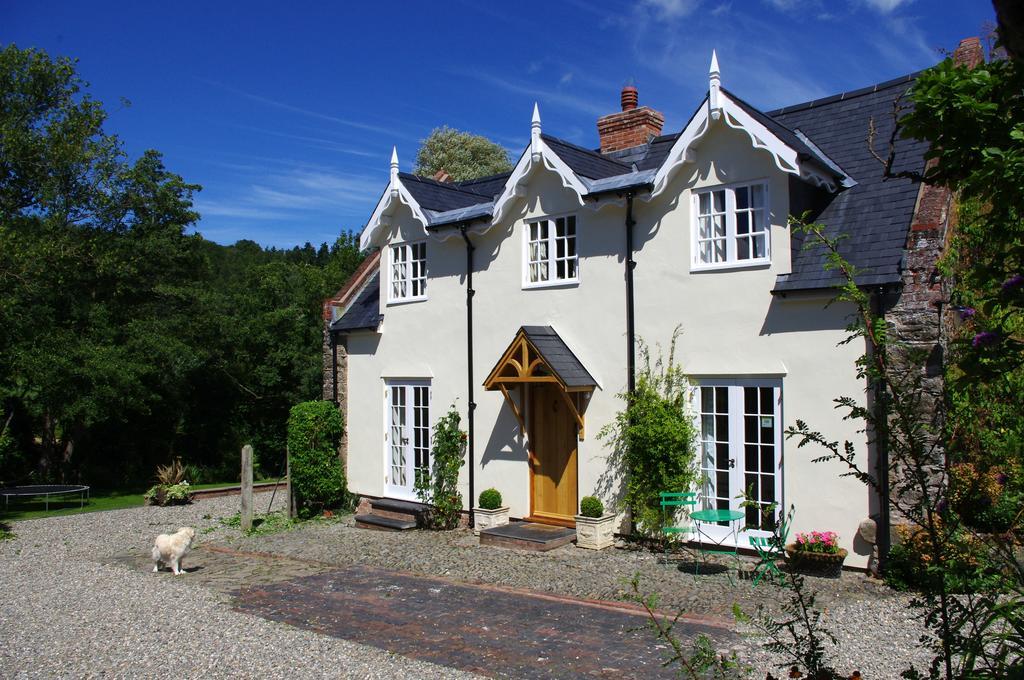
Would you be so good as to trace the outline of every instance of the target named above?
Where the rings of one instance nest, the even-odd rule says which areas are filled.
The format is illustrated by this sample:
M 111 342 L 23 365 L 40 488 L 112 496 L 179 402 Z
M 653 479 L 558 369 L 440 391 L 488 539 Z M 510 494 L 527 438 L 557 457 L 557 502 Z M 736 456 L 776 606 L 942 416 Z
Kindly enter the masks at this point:
M 258 509 L 265 509 L 268 497 L 257 498 Z M 0 542 L 0 636 L 6 642 L 0 645 L 0 677 L 474 677 L 230 607 L 232 579 L 272 582 L 331 564 L 605 600 L 623 599 L 626 582 L 638 575 L 643 590 L 658 595 L 663 610 L 682 608 L 716 620 L 728 618 L 733 602 L 752 610 L 782 599 L 777 589 L 730 583 L 724 573 L 694 579 L 645 551 L 502 550 L 479 546 L 468 530 L 368 532 L 351 526 L 350 517 L 247 537 L 219 521 L 234 514 L 238 503 L 238 497 L 224 497 L 176 508 L 16 522 L 17 538 Z M 148 572 L 153 537 L 181 525 L 197 528 L 200 549 L 191 568 L 199 570 L 182 577 Z M 282 559 L 253 560 L 248 570 L 236 560 L 232 573 L 204 544 Z M 831 657 L 841 671 L 897 678 L 911 663 L 925 666 L 928 655 L 916 646 L 923 629 L 909 598 L 852 572 L 839 581 L 809 581 L 819 592 L 824 624 L 841 642 Z M 754 639 L 739 649 L 759 670 L 754 677 L 764 677 L 778 661 Z

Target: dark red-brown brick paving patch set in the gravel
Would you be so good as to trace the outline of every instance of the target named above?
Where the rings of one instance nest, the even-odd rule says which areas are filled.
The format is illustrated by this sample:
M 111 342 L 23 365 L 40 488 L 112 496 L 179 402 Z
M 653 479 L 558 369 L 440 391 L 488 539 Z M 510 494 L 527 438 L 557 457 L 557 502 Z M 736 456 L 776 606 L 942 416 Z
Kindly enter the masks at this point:
M 244 588 L 240 611 L 493 677 L 675 677 L 643 611 L 352 565 Z M 683 640 L 736 639 L 681 620 Z

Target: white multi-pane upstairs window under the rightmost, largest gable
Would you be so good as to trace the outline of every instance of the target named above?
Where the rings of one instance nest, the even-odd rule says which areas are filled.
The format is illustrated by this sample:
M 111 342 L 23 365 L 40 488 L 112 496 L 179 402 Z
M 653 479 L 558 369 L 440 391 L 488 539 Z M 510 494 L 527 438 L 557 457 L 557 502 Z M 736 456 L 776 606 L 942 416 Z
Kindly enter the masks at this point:
M 769 256 L 765 184 L 699 192 L 694 197 L 694 264 L 763 262 Z

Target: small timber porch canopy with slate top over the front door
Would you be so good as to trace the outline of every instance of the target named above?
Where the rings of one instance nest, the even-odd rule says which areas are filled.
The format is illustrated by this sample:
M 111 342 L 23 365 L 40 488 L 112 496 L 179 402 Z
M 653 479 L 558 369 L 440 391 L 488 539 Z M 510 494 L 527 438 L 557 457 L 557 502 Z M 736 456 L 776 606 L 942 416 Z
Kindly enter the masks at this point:
M 519 391 L 521 402 L 522 388 L 539 383 L 552 383 L 560 388 L 558 391 L 575 418 L 582 439 L 584 412 L 597 381 L 553 328 L 523 326 L 492 369 L 483 387 L 501 390 L 519 427 L 525 431 L 522 411 L 512 398 L 511 390 Z

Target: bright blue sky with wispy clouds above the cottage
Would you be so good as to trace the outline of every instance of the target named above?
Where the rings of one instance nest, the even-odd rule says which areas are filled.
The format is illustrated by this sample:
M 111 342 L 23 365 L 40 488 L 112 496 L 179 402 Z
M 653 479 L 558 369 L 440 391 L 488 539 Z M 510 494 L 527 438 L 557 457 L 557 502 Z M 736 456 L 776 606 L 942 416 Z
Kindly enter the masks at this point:
M 0 0 L 0 42 L 79 58 L 128 151 L 203 185 L 206 238 L 289 247 L 361 229 L 392 144 L 412 170 L 439 125 L 518 155 L 536 100 L 545 132 L 594 146 L 632 81 L 671 132 L 712 48 L 767 110 L 926 68 L 992 19 L 987 0 Z

